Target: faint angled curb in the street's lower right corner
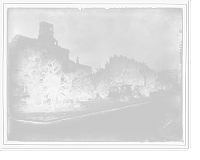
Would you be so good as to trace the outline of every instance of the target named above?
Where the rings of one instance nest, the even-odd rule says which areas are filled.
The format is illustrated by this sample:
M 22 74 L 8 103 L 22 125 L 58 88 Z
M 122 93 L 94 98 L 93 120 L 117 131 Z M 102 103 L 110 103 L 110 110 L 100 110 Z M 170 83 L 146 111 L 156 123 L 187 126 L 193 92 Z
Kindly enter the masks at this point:
M 181 120 L 181 116 L 178 116 L 175 120 L 173 120 L 170 124 L 168 124 L 160 132 L 158 132 L 158 134 L 162 135 L 162 136 L 180 137 L 179 135 L 168 133 L 173 127 L 175 127 L 180 122 L 180 120 Z

